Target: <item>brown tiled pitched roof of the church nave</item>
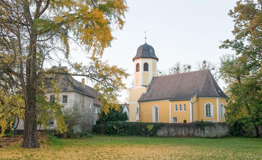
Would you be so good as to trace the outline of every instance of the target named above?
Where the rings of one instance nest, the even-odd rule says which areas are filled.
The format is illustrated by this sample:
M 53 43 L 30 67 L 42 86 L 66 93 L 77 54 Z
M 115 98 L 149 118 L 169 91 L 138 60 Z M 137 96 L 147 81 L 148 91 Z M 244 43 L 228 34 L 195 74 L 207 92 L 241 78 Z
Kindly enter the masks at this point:
M 140 96 L 138 102 L 189 100 L 194 96 L 227 98 L 211 72 L 206 69 L 153 77 L 148 91 Z

